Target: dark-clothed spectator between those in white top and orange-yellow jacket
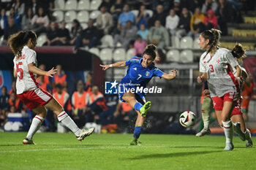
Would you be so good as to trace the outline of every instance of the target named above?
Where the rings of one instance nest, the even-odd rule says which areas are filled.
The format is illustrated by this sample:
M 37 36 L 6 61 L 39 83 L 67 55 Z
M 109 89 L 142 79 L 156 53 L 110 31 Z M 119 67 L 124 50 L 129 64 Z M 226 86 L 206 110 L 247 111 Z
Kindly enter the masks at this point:
M 176 31 L 176 36 L 181 39 L 182 36 L 186 36 L 190 31 L 190 20 L 191 15 L 188 12 L 187 8 L 183 8 L 181 12 L 181 17 L 178 22 L 178 28 Z

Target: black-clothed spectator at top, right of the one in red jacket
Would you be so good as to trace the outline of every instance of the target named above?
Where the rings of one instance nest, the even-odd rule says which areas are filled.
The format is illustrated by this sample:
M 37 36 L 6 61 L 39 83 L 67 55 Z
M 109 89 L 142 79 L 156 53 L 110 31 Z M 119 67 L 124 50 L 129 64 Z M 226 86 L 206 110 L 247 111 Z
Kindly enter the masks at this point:
M 219 0 L 219 7 L 217 9 L 217 18 L 222 35 L 227 35 L 227 22 L 234 21 L 233 7 L 227 0 Z

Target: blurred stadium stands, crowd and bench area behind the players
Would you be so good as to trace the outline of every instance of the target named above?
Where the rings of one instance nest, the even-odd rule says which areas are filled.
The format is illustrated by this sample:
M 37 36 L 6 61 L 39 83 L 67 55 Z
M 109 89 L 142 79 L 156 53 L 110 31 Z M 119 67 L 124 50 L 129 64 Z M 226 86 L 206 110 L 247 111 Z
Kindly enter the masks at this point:
M 143 133 L 195 134 L 200 126 L 202 93 L 202 85 L 198 85 L 195 78 L 203 53 L 197 39 L 200 31 L 214 27 L 222 31 L 221 47 L 231 49 L 238 42 L 246 48 L 246 58 L 241 65 L 252 74 L 254 87 L 246 125 L 256 134 L 256 11 L 253 0 L 1 0 L 0 7 L 1 131 L 27 131 L 34 117 L 12 93 L 15 92 L 13 55 L 6 45 L 10 34 L 31 29 L 38 36 L 38 66 L 48 70 L 59 65 L 56 77 L 38 81 L 55 96 L 58 93 L 66 96 L 59 97 L 60 102 L 80 127 L 95 126 L 98 133 L 133 131 L 135 113 L 125 105 L 118 105 L 117 96 L 105 95 L 104 91 L 105 81 L 121 80 L 126 69 L 102 72 L 99 64 L 128 60 L 141 53 L 147 43 L 154 43 L 159 53 L 157 67 L 164 72 L 176 68 L 178 77 L 170 82 L 151 80 L 149 86 L 157 85 L 164 93 L 147 96 L 153 106 Z M 194 15 L 198 7 L 199 12 Z M 211 10 L 214 14 L 209 14 Z M 60 90 L 56 89 L 59 86 Z M 4 87 L 7 96 L 2 96 Z M 74 95 L 77 90 L 89 96 L 83 106 L 87 109 L 75 103 L 79 99 Z M 109 115 L 102 114 L 106 110 Z M 197 125 L 185 129 L 179 125 L 178 116 L 186 110 L 195 112 Z M 222 133 L 217 122 L 211 124 L 211 130 Z M 48 112 L 40 131 L 66 130 L 57 123 L 53 113 Z

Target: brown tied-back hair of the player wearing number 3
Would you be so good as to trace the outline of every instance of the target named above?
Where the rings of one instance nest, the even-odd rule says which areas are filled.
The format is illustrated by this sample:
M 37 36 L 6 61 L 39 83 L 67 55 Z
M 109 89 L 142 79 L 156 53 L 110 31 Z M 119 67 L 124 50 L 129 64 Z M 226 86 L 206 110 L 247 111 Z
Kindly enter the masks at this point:
M 217 29 L 211 28 L 211 30 L 206 30 L 203 31 L 201 36 L 203 36 L 204 39 L 209 39 L 208 45 L 210 45 L 209 49 L 206 52 L 206 55 L 211 52 L 213 47 L 218 47 L 219 46 L 219 39 L 220 39 L 220 34 L 222 31 L 219 31 Z M 206 58 L 206 55 L 203 57 Z

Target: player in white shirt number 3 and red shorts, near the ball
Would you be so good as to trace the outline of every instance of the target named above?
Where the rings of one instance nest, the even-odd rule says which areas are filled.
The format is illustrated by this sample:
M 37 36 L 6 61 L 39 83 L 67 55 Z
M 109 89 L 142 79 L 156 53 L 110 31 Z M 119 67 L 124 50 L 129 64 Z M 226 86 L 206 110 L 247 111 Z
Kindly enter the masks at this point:
M 206 50 L 200 57 L 201 76 L 197 82 L 208 81 L 208 88 L 214 101 L 214 109 L 218 119 L 222 120 L 226 136 L 225 151 L 233 150 L 233 124 L 231 112 L 240 96 L 238 87 L 241 68 L 229 50 L 218 47 L 220 31 L 211 29 L 199 36 L 200 49 Z M 236 69 L 236 77 L 233 75 Z M 221 117 L 221 118 L 220 118 Z

